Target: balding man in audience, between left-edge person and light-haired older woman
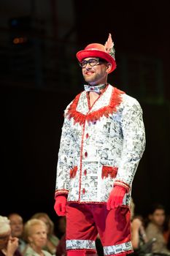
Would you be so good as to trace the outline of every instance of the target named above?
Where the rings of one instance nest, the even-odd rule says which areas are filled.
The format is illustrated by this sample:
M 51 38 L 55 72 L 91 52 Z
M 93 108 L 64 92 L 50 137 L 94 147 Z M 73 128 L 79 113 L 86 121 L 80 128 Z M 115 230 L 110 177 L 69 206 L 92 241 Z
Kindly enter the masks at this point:
M 8 219 L 10 220 L 11 236 L 18 238 L 18 250 L 23 253 L 26 249 L 26 241 L 23 240 L 23 218 L 17 214 L 9 214 Z

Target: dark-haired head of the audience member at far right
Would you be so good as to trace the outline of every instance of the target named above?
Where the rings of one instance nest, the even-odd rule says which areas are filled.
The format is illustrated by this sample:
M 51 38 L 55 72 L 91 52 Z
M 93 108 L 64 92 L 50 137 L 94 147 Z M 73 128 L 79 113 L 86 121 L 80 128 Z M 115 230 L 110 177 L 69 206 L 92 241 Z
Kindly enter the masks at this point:
M 162 227 L 166 219 L 164 206 L 159 203 L 153 204 L 150 207 L 150 213 L 148 217 L 152 223 Z

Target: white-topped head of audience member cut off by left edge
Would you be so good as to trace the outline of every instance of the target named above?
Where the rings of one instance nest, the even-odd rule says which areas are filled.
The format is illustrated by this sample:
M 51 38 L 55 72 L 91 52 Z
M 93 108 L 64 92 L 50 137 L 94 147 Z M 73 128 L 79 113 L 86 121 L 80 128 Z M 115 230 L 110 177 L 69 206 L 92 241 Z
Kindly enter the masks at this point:
M 9 225 L 9 219 L 0 216 L 0 250 L 7 247 L 10 235 L 11 227 Z

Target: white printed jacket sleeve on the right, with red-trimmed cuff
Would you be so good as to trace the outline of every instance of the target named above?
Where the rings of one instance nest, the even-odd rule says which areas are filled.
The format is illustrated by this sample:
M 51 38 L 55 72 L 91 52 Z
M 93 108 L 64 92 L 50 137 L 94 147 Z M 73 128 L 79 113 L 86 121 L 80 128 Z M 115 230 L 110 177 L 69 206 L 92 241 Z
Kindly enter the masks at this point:
M 142 108 L 136 99 L 131 98 L 125 102 L 120 122 L 123 151 L 114 186 L 120 185 L 129 191 L 145 148 Z

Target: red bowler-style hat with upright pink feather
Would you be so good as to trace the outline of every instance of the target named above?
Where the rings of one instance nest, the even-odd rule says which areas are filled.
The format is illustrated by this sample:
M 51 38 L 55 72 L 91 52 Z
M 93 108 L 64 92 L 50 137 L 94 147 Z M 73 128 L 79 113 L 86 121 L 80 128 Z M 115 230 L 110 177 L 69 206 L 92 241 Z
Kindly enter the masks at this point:
M 112 64 L 112 69 L 109 73 L 111 73 L 116 68 L 114 42 L 112 42 L 111 34 L 109 34 L 109 37 L 105 45 L 92 43 L 86 46 L 84 50 L 78 51 L 76 56 L 80 62 L 82 61 L 82 59 L 88 57 L 98 57 L 101 59 L 105 59 L 106 61 Z

